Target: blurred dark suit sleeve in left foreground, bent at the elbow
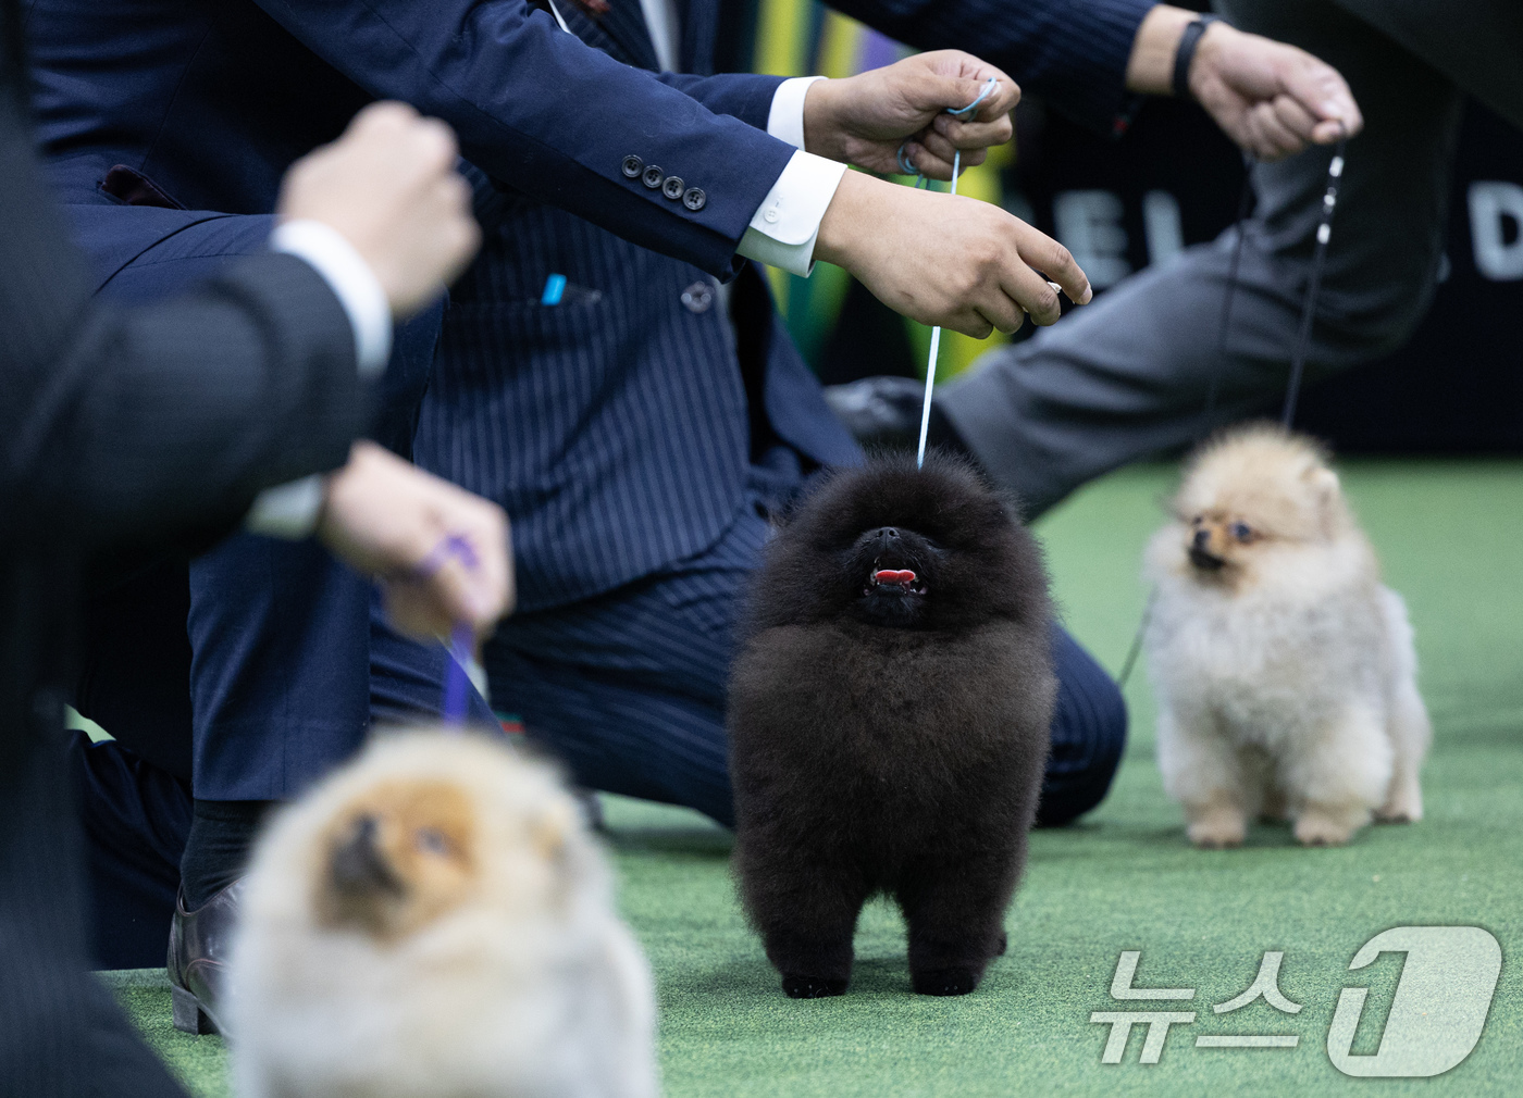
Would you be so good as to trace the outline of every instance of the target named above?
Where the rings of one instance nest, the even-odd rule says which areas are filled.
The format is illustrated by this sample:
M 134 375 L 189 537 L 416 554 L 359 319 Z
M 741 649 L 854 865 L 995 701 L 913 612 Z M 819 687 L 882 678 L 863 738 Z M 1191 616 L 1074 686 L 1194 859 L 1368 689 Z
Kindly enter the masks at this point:
M 270 254 L 172 303 L 94 303 L 43 189 L 11 61 L 0 61 L 12 69 L 0 75 L 0 528 L 181 535 L 341 464 L 367 425 L 367 394 L 321 277 Z

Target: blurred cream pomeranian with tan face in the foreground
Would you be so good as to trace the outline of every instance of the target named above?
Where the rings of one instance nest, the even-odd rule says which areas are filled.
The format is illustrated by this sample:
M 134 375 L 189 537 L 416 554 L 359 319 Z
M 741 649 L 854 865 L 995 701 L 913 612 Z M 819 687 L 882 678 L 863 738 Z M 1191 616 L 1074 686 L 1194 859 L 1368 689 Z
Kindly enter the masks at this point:
M 646 1098 L 644 958 L 554 772 L 382 734 L 254 853 L 228 1011 L 244 1098 Z

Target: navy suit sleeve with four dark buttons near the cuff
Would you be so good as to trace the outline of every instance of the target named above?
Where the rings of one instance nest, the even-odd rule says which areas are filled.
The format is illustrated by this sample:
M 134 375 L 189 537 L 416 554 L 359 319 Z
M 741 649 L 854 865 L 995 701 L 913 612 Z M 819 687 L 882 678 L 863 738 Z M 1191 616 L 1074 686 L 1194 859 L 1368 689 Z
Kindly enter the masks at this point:
M 716 114 L 524 0 L 257 3 L 370 94 L 448 122 L 503 183 L 713 274 L 739 270 L 740 238 L 793 155 L 765 120 Z M 748 87 L 754 101 L 763 85 Z M 626 157 L 702 190 L 701 207 L 626 175 Z

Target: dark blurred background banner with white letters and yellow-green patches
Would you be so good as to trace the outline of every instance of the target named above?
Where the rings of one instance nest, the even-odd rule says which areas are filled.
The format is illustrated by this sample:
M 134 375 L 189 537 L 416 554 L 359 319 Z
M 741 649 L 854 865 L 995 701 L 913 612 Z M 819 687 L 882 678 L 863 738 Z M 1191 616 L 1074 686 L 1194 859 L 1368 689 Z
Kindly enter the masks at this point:
M 818 0 L 752 3 L 755 72 L 851 76 L 911 52 Z M 1150 101 L 1115 142 L 1028 96 L 1016 111 L 1016 142 L 970 169 L 958 192 L 1060 239 L 1104 292 L 1217 236 L 1237 216 L 1241 186 L 1237 149 L 1194 104 Z M 1461 134 L 1444 271 L 1413 340 L 1311 388 L 1302 428 L 1345 452 L 1523 452 L 1523 134 L 1479 104 L 1467 105 Z M 812 279 L 771 274 L 789 329 L 825 384 L 924 376 L 929 329 L 892 314 L 839 268 L 821 263 Z M 940 378 L 1002 338 L 946 335 Z

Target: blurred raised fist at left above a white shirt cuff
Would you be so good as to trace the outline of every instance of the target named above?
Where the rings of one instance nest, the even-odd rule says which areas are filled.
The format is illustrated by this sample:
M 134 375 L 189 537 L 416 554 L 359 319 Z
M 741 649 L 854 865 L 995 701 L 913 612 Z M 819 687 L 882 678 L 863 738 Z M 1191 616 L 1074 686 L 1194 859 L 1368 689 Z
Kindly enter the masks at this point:
M 443 122 L 407 104 L 372 104 L 343 137 L 291 166 L 276 213 L 343 233 L 375 271 L 391 312 L 407 317 L 439 297 L 481 239 L 457 155 Z

